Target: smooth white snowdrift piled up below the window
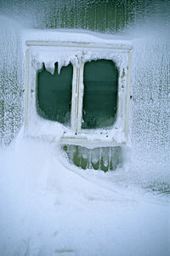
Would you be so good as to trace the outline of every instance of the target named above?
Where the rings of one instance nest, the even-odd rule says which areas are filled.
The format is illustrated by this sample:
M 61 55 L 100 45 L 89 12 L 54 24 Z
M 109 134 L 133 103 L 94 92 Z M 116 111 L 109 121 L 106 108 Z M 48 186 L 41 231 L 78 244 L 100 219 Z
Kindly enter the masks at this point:
M 169 254 L 168 198 L 82 172 L 56 143 L 19 139 L 0 161 L 1 255 Z

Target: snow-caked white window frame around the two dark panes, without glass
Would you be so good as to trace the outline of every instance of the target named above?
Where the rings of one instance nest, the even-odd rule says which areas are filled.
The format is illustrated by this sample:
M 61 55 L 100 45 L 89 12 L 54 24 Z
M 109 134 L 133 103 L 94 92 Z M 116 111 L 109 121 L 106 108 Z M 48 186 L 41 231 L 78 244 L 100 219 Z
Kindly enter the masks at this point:
M 72 65 L 71 128 L 65 127 L 60 137 L 55 137 L 54 132 L 49 132 L 48 123 L 53 123 L 54 129 L 58 129 L 59 123 L 43 119 L 37 114 L 37 71 L 41 69 L 43 62 L 41 58 L 39 60 L 37 55 L 44 54 L 44 51 L 46 55 L 54 53 L 53 58 L 56 56 L 55 62 L 57 62 L 57 50 L 59 49 L 67 49 L 70 60 L 71 56 L 77 58 L 77 65 L 75 63 Z M 132 46 L 130 44 L 78 44 L 26 41 L 25 137 L 43 137 L 49 140 L 56 140 L 59 143 L 83 145 L 88 148 L 101 146 L 115 147 L 127 144 L 131 55 Z M 84 63 L 99 59 L 114 61 L 119 70 L 116 122 L 108 129 L 82 129 Z M 47 63 L 46 66 L 48 66 Z M 42 126 L 44 130 L 39 132 L 39 128 L 42 128 Z M 35 127 L 37 127 L 37 131 L 35 131 Z

